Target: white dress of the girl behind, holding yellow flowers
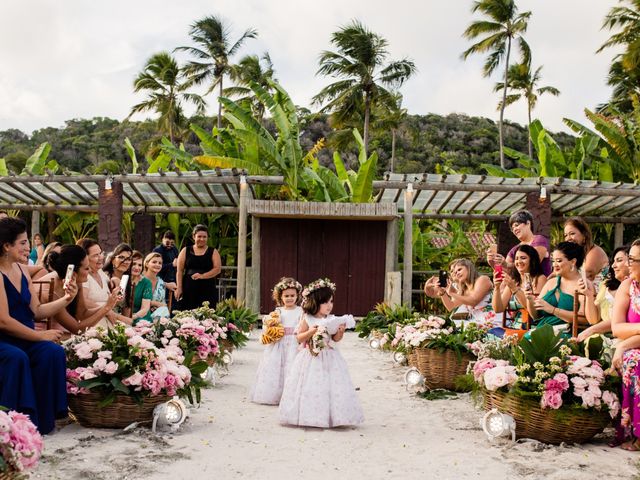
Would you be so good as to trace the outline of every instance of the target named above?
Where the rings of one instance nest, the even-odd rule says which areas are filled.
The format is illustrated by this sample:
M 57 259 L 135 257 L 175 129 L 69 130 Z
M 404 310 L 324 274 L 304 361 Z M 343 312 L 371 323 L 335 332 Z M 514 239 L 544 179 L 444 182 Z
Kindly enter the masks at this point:
M 284 337 L 265 346 L 249 397 L 255 403 L 267 405 L 280 403 L 285 376 L 298 351 L 298 341 L 294 331 L 302 317 L 302 308 L 296 307 L 291 310 L 278 308 L 278 311 L 284 327 Z

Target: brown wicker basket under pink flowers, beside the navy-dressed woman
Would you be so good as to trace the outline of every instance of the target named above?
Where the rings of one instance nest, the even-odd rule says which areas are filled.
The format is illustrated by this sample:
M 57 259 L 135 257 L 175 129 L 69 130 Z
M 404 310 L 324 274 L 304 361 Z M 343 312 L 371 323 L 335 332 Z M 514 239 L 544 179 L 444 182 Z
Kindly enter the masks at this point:
M 124 428 L 133 422 L 151 422 L 156 405 L 169 400 L 167 395 L 144 397 L 139 405 L 131 397 L 116 395 L 106 407 L 98 404 L 104 399 L 99 393 L 69 395 L 69 410 L 83 427 Z

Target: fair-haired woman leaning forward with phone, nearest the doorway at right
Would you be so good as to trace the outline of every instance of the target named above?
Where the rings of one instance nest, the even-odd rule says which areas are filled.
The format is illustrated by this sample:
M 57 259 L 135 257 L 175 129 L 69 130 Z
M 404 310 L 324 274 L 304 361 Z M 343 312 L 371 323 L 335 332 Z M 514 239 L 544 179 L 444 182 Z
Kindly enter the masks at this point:
M 455 310 L 454 320 L 464 317 L 484 323 L 488 313 L 486 307 L 491 303 L 491 280 L 486 275 L 479 275 L 475 265 L 466 258 L 454 260 L 449 270 L 446 288 L 439 286 L 438 277 L 431 277 L 424 286 L 425 294 L 439 297 L 447 310 Z M 494 323 L 502 326 L 502 317 Z

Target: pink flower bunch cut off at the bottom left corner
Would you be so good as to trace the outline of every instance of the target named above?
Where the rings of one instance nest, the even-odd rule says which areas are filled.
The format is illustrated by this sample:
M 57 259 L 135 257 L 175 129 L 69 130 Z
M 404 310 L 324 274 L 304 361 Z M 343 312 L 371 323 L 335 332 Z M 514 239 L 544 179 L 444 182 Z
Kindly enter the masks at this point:
M 27 415 L 0 410 L 0 474 L 10 478 L 34 468 L 42 453 L 43 441 Z

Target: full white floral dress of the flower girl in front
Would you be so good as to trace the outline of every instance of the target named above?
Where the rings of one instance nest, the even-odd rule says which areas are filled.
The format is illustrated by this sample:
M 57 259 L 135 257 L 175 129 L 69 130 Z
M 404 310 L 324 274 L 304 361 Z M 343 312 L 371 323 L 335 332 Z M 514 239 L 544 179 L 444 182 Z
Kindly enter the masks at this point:
M 326 326 L 334 318 L 306 316 L 306 321 L 309 327 Z M 364 421 L 347 364 L 328 334 L 325 341 L 328 346 L 317 356 L 308 347 L 296 355 L 280 400 L 281 423 L 331 428 Z

